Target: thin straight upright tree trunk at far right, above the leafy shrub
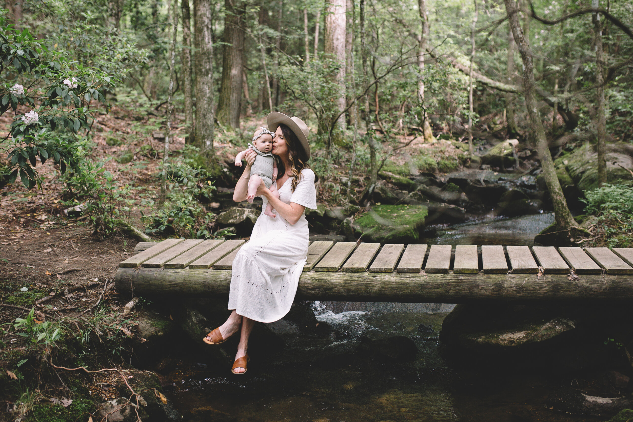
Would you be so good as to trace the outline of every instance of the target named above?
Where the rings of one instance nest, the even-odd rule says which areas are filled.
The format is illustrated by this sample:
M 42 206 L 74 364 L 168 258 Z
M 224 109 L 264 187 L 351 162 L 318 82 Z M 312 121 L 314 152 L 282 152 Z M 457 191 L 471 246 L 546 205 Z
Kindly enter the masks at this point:
M 598 0 L 591 0 L 591 7 L 598 8 Z M 605 73 L 602 47 L 602 25 L 600 15 L 593 14 L 594 49 L 596 49 L 596 135 L 598 136 L 598 186 L 606 183 L 606 116 L 605 116 Z

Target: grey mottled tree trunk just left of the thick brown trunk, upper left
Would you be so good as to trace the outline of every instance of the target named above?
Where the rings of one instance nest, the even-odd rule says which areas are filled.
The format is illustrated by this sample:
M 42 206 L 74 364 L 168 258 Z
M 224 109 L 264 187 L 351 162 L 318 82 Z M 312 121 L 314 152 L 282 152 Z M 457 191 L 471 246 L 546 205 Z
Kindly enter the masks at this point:
M 196 145 L 213 157 L 213 37 L 211 0 L 194 0 L 194 44 L 196 47 Z

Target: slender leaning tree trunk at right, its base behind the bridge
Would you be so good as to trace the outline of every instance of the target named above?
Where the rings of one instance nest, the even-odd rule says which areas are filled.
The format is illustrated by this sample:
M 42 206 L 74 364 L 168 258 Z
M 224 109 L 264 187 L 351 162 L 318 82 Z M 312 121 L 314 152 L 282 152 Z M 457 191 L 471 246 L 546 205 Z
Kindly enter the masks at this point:
M 559 230 L 569 230 L 578 228 L 578 224 L 573 220 L 563 195 L 563 189 L 560 187 L 554 162 L 549 152 L 548 140 L 545 136 L 545 128 L 539 115 L 538 104 L 536 102 L 536 91 L 534 89 L 534 63 L 532 62 L 532 49 L 529 41 L 523 35 L 523 29 L 519 23 L 518 6 L 515 0 L 505 0 L 506 11 L 510 19 L 510 27 L 517 43 L 518 51 L 521 53 L 523 60 L 523 90 L 525 94 L 525 107 L 530 118 L 530 127 L 534 131 L 536 139 L 536 147 L 541 158 L 541 166 L 545 182 L 548 186 L 549 195 L 551 196 L 554 213 L 556 216 L 556 225 Z M 570 232 L 571 235 L 571 232 Z

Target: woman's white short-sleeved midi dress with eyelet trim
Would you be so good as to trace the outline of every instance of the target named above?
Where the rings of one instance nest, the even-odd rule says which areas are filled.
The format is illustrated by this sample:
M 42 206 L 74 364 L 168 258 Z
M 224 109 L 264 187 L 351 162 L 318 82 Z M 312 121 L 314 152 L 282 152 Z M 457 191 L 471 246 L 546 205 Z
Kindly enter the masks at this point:
M 288 178 L 279 188 L 279 199 L 316 209 L 314 171 L 301 170 L 294 192 L 291 183 Z M 290 310 L 306 264 L 310 234 L 305 215 L 291 225 L 277 211 L 273 213 L 277 217 L 260 214 L 251 239 L 235 256 L 229 293 L 229 309 L 263 323 L 280 320 Z

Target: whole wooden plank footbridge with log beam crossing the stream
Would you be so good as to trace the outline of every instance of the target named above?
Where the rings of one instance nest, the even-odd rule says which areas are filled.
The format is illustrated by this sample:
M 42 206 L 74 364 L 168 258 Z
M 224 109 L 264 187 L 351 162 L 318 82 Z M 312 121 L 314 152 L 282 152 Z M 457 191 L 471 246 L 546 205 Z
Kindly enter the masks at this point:
M 137 295 L 229 294 L 244 240 L 167 239 L 119 264 Z M 297 299 L 323 301 L 631 301 L 633 248 L 312 242 Z

